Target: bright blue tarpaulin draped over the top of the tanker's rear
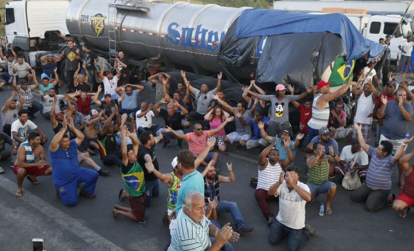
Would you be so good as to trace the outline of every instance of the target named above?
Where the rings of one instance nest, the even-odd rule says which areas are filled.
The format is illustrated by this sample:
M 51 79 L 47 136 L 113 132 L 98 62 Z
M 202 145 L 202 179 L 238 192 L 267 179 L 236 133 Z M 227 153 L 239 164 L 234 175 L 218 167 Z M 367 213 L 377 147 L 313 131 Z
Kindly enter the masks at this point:
M 365 39 L 343 14 L 313 15 L 280 10 L 250 9 L 238 18 L 236 38 L 272 36 L 288 33 L 330 32 L 341 36 L 347 60 L 380 56 L 382 46 Z

